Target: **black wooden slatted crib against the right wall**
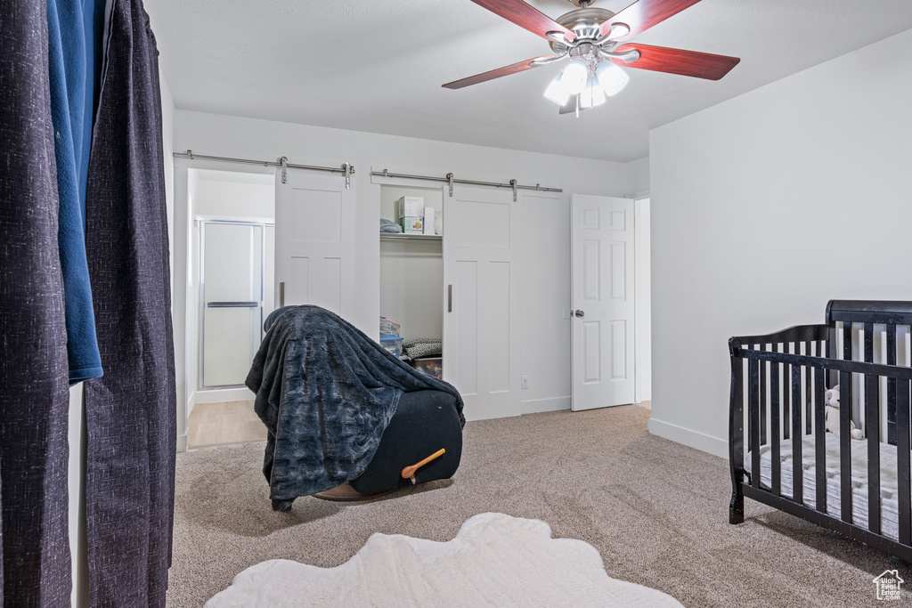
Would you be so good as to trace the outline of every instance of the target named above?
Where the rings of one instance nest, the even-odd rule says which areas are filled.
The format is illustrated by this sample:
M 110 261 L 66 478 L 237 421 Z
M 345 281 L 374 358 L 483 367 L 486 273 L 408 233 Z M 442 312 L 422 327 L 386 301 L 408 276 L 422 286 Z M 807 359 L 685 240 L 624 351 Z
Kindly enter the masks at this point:
M 912 562 L 910 325 L 912 302 L 831 300 L 824 325 L 729 340 L 731 523 L 746 496 Z

